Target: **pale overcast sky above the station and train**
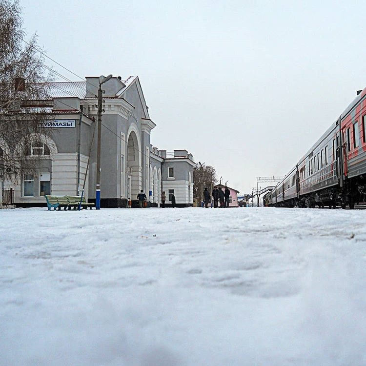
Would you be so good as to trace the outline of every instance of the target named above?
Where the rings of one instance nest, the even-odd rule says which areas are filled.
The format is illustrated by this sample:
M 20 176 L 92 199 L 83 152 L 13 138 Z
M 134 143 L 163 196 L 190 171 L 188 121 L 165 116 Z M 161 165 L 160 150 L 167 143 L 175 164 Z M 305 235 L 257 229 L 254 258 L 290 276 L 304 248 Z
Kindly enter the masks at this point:
M 28 34 L 76 74 L 138 75 L 153 145 L 241 193 L 287 174 L 366 87 L 365 1 L 20 3 Z

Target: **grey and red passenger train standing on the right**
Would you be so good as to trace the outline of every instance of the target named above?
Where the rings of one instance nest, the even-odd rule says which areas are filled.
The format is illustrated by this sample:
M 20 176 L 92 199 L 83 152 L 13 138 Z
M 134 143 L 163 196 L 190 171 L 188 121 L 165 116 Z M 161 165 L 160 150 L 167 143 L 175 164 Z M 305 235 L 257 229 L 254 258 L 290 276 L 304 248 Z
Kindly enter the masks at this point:
M 366 204 L 366 88 L 264 196 L 276 207 Z

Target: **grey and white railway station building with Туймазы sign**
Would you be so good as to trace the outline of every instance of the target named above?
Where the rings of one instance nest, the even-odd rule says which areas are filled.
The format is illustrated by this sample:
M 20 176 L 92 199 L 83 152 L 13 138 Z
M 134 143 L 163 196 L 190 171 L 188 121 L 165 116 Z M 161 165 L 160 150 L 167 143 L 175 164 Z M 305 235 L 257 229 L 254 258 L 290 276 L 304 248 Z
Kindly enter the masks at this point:
M 97 170 L 98 77 L 86 81 L 45 83 L 41 101 L 50 119 L 50 133 L 35 139 L 27 158 L 37 169 L 16 181 L 4 182 L 14 191 L 17 207 L 45 205 L 43 195 L 84 195 L 95 202 Z M 159 206 L 162 191 L 166 206 L 174 193 L 177 207 L 193 205 L 192 154 L 172 152 L 151 144 L 156 124 L 150 119 L 138 77 L 114 77 L 102 84 L 101 206 L 138 206 L 143 190 L 147 204 Z M 5 147 L 6 148 L 6 147 Z

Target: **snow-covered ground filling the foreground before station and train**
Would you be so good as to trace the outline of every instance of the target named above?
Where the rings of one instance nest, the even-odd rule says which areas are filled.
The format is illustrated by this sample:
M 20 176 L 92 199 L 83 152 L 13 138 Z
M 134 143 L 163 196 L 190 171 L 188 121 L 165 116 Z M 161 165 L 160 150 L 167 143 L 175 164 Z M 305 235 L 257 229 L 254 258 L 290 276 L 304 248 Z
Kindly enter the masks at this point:
M 366 210 L 0 210 L 0 365 L 366 365 L 365 223 Z

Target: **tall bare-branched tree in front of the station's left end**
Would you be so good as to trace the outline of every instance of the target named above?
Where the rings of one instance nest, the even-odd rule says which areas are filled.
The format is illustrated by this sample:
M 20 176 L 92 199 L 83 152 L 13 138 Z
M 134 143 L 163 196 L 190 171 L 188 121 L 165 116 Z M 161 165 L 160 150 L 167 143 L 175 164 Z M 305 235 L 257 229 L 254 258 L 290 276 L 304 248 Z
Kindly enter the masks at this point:
M 46 74 L 37 36 L 24 38 L 19 1 L 0 0 L 0 181 L 34 171 L 37 160 L 29 156 L 49 131 L 42 82 L 51 80 L 52 71 Z

